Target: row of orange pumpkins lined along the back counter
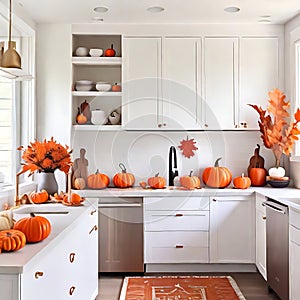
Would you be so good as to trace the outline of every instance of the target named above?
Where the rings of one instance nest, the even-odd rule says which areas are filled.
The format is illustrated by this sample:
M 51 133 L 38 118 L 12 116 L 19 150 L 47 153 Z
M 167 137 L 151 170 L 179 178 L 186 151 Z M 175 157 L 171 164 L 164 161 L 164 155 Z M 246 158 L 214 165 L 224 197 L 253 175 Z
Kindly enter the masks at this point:
M 208 187 L 225 188 L 232 181 L 232 174 L 230 170 L 226 167 L 219 166 L 220 160 L 221 158 L 218 158 L 213 167 L 208 167 L 203 171 L 202 181 Z M 112 179 L 114 186 L 119 188 L 132 187 L 135 183 L 134 175 L 127 172 L 123 163 L 120 163 L 119 167 L 121 168 L 122 172 L 114 175 Z M 253 170 L 252 172 L 253 179 L 250 179 L 249 177 L 246 177 L 242 174 L 242 176 L 233 179 L 233 185 L 239 189 L 246 189 L 250 185 L 264 185 L 261 184 L 261 179 L 259 179 L 258 176 L 254 174 L 254 172 L 255 170 Z M 80 190 L 86 187 L 89 189 L 103 189 L 108 187 L 109 183 L 109 177 L 106 174 L 100 173 L 97 170 L 95 174 L 89 175 L 87 177 L 87 180 L 83 178 L 76 178 L 74 181 L 74 188 Z M 139 184 L 143 188 L 149 186 L 150 188 L 161 189 L 166 187 L 166 179 L 164 177 L 159 176 L 159 174 L 156 174 L 155 176 L 148 178 L 147 182 L 142 181 Z M 196 189 L 200 188 L 201 181 L 198 176 L 193 176 L 191 171 L 190 174 L 187 176 L 175 178 L 174 184 L 186 189 Z

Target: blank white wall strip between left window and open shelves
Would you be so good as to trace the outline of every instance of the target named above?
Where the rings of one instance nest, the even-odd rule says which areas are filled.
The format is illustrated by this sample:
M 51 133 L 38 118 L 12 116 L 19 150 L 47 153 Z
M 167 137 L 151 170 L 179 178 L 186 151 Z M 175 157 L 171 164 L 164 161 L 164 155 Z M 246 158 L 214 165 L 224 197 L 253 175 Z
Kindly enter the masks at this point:
M 70 144 L 71 41 L 69 24 L 37 27 L 37 138 Z

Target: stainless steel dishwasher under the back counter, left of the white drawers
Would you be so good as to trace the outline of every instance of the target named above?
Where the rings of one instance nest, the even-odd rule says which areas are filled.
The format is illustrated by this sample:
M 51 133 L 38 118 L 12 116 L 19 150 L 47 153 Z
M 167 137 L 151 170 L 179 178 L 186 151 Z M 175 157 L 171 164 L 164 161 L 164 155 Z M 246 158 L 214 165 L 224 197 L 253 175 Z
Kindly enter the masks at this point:
M 143 198 L 98 201 L 99 272 L 144 272 Z

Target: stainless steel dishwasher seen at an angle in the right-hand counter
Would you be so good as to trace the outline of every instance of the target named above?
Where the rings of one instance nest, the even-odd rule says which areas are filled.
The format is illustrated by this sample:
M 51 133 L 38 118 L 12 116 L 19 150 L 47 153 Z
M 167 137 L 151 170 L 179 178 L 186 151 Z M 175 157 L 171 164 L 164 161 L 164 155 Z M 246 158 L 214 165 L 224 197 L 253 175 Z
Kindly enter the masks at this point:
M 281 300 L 289 299 L 288 206 L 268 198 L 266 207 L 267 283 Z

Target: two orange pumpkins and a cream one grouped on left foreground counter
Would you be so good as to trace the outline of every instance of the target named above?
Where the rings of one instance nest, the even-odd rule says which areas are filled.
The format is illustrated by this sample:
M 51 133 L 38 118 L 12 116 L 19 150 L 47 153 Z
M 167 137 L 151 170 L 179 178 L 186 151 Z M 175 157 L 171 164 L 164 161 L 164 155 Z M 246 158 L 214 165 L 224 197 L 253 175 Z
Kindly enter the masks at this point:
M 30 213 L 17 222 L 11 210 L 0 212 L 0 253 L 13 252 L 26 243 L 37 243 L 49 236 L 51 223 L 47 218 Z

